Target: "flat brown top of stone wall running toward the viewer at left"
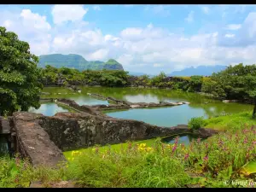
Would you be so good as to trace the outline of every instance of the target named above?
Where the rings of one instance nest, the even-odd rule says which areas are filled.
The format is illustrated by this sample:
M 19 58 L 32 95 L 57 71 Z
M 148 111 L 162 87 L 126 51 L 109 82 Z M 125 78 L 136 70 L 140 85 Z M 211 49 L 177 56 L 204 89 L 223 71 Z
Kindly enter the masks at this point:
M 38 124 L 38 113 L 14 113 L 17 151 L 28 158 L 33 166 L 56 166 L 65 157 L 60 148 L 50 140 L 49 135 Z

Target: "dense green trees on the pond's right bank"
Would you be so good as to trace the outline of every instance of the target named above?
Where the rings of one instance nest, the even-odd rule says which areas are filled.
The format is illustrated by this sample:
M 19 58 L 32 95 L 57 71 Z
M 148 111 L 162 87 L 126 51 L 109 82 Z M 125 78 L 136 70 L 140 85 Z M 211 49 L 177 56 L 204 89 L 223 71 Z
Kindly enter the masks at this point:
M 227 67 L 213 73 L 211 80 L 202 85 L 202 91 L 220 98 L 254 102 L 253 116 L 256 113 L 256 65 Z

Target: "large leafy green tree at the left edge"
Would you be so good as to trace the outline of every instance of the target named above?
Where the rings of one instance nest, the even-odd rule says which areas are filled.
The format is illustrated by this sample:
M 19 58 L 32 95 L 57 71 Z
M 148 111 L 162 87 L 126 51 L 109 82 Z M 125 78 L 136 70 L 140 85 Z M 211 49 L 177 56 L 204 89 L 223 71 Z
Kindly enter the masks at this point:
M 39 108 L 38 57 L 30 53 L 29 44 L 15 32 L 0 27 L 0 115 L 10 115 L 30 107 Z

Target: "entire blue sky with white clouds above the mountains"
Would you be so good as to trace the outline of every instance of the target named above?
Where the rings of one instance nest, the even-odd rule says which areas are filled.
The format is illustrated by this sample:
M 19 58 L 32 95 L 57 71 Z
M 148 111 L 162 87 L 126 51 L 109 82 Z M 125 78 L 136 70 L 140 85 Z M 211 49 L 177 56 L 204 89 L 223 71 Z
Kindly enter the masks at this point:
M 127 71 L 256 63 L 255 5 L 0 5 L 35 55 L 79 54 Z

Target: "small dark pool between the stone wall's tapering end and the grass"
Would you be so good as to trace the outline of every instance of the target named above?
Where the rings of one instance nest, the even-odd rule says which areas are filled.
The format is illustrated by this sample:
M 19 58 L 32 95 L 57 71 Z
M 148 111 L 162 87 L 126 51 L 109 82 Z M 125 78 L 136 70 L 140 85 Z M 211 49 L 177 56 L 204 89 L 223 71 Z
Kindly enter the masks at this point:
M 178 144 L 183 143 L 184 145 L 188 146 L 189 143 L 191 143 L 192 141 L 196 141 L 199 137 L 195 136 L 193 134 L 180 134 L 180 135 L 176 135 L 176 136 L 171 136 L 171 137 L 164 137 L 161 139 L 162 143 L 168 143 L 168 144 L 174 144 L 175 143 L 175 139 L 176 137 L 178 137 Z M 203 141 L 205 139 L 201 139 L 201 141 Z

